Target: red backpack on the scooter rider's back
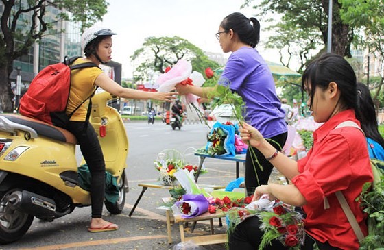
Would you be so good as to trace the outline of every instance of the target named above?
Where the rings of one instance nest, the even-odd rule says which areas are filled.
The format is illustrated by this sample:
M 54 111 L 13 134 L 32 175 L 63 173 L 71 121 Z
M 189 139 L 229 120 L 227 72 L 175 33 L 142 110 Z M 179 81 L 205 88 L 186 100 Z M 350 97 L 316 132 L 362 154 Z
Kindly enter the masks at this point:
M 71 71 L 79 68 L 97 67 L 92 62 L 70 66 L 80 57 L 65 57 L 64 62 L 52 64 L 44 68 L 34 77 L 27 92 L 21 97 L 19 112 L 23 116 L 36 118 L 45 123 L 65 127 L 69 118 L 87 99 L 67 116 L 65 110 L 71 89 Z

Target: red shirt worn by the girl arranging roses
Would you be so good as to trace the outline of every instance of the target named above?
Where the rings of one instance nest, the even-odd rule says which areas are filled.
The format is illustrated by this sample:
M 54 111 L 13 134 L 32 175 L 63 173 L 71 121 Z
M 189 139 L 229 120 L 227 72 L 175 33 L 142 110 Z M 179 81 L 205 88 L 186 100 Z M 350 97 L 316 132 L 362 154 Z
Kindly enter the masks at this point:
M 343 121 L 354 121 L 353 110 L 333 116 L 313 132 L 313 148 L 307 157 L 298 160 L 299 175 L 293 184 L 307 200 L 306 232 L 319 240 L 328 241 L 340 249 L 358 249 L 359 241 L 335 196 L 341 191 L 355 214 L 363 234 L 368 234 L 365 215 L 355 202 L 365 182 L 372 182 L 372 168 L 365 136 L 355 127 L 335 129 Z M 330 208 L 324 209 L 324 197 Z

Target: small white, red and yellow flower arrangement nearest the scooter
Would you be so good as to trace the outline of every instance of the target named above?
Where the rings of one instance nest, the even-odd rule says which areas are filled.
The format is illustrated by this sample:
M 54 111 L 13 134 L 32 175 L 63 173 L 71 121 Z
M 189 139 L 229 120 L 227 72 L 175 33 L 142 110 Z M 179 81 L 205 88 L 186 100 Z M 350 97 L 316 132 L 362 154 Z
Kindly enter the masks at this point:
M 181 160 L 160 159 L 155 161 L 154 164 L 155 168 L 159 171 L 160 182 L 163 182 L 165 185 L 172 185 L 176 180 L 174 174 L 182 168 Z

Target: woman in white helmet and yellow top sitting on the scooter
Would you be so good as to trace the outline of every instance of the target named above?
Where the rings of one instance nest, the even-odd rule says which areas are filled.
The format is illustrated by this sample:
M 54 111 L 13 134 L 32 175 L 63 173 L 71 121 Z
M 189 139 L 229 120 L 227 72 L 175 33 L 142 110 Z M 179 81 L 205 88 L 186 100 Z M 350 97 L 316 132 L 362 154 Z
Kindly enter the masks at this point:
M 85 57 L 78 58 L 73 64 L 93 62 L 96 65 L 106 64 L 112 59 L 112 35 L 116 33 L 103 27 L 91 27 L 82 34 L 81 45 Z M 123 88 L 110 79 L 100 68 L 82 68 L 72 71 L 71 91 L 67 104 L 67 114 L 71 114 L 69 125 L 65 127 L 77 138 L 82 155 L 91 173 L 91 224 L 89 232 L 104 232 L 118 229 L 118 225 L 101 218 L 104 203 L 105 172 L 104 155 L 97 139 L 97 134 L 86 121 L 89 100 L 85 101 L 99 86 L 112 95 L 127 99 L 155 99 L 171 101 L 176 93 L 143 92 Z M 82 103 L 82 104 L 81 104 Z

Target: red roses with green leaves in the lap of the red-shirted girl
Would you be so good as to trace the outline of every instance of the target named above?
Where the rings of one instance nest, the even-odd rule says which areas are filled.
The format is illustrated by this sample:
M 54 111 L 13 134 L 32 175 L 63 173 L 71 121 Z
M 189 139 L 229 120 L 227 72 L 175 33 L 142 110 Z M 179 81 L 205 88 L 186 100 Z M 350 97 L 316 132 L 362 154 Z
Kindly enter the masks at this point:
M 276 201 L 272 211 L 259 211 L 257 216 L 264 231 L 259 250 L 270 245 L 272 240 L 280 242 L 289 249 L 300 249 L 304 243 L 304 222 L 302 214 L 292 210 L 281 201 Z

